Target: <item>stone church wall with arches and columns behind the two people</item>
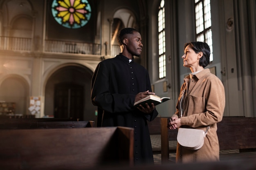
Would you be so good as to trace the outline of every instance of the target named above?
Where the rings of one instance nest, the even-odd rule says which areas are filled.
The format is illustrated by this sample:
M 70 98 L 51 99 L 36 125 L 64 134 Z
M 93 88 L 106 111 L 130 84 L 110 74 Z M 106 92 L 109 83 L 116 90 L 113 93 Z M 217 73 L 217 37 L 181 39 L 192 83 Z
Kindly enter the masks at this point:
M 181 56 L 184 53 L 184 43 L 195 40 L 193 8 L 191 8 L 193 0 L 166 0 L 168 9 L 166 10 L 166 46 L 168 49 L 166 50 L 167 75 L 164 79 L 158 79 L 157 63 L 156 15 L 160 0 L 140 0 L 139 2 L 137 0 L 126 2 L 88 0 L 92 7 L 93 19 L 84 28 L 75 30 L 62 28 L 54 21 L 49 9 L 51 0 L 24 0 L 22 4 L 18 2 L 20 1 L 0 1 L 0 35 L 31 38 L 32 45 L 27 51 L 1 50 L 0 88 L 1 85 L 7 86 L 5 82 L 7 79 L 8 82 L 13 82 L 11 85 L 13 86 L 16 80 L 9 81 L 9 78 L 18 77 L 20 88 L 24 88 L 27 94 L 24 99 L 26 102 L 20 103 L 24 114 L 29 113 L 26 108 L 29 106 L 30 96 L 40 96 L 42 99 L 41 113 L 37 117 L 43 117 L 50 112 L 47 110 L 46 113 L 45 108 L 53 109 L 52 104 L 49 104 L 51 101 L 45 102 L 45 87 L 49 77 L 59 68 L 77 64 L 92 74 L 101 60 L 113 57 L 110 47 L 114 31 L 112 30 L 113 18 L 121 19 L 124 26 L 134 26 L 141 31 L 142 39 L 145 40 L 144 51 L 137 61 L 148 69 L 157 95 L 172 98 L 168 106 L 158 106 L 159 115 L 169 116 L 174 112 L 183 78 L 190 73 L 189 68 L 183 67 Z M 229 8 L 231 6 L 232 9 Z M 214 61 L 209 68 L 215 68 L 216 75 L 225 84 L 227 93 L 225 115 L 228 116 L 255 116 L 255 6 L 254 0 L 211 1 Z M 15 10 L 11 11 L 10 7 Z M 126 15 L 121 15 L 124 13 Z M 235 29 L 231 31 L 226 30 L 229 15 L 235 21 Z M 133 17 L 132 21 L 127 16 Z M 26 25 L 18 23 L 26 23 Z M 45 40 L 97 42 L 101 45 L 101 53 L 100 55 L 46 53 Z M 231 72 L 231 68 L 235 69 L 236 75 Z M 167 84 L 166 92 L 163 91 L 165 83 Z M 89 84 L 88 79 L 85 85 L 87 90 L 90 88 Z M 234 84 L 238 88 L 235 88 Z M 24 96 L 23 93 L 20 95 Z M 90 103 L 89 96 L 86 101 L 85 112 L 94 113 L 96 107 Z

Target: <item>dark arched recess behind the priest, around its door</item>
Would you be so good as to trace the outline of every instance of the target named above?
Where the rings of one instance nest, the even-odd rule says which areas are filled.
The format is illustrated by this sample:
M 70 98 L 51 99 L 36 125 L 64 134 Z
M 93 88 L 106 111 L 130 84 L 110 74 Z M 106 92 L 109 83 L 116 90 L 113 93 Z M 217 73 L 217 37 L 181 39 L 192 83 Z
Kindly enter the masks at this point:
M 58 110 L 56 110 L 56 109 L 59 109 L 59 108 L 56 108 L 57 106 L 56 86 L 61 84 L 71 89 L 74 88 L 75 86 L 76 87 L 80 86 L 83 88 L 83 92 L 82 92 L 83 101 L 76 101 L 76 102 L 80 102 L 80 104 L 82 105 L 81 106 L 82 111 L 79 111 L 81 112 L 81 115 L 75 115 L 75 113 L 73 114 L 72 112 L 77 111 L 75 109 L 71 110 L 71 115 L 73 115 L 73 118 L 96 121 L 96 118 L 94 116 L 95 107 L 92 105 L 90 101 L 90 84 L 91 84 L 92 74 L 93 72 L 89 68 L 77 63 L 61 64 L 58 67 L 54 68 L 51 71 L 51 73 L 49 73 L 49 75 L 47 76 L 48 78 L 45 79 L 45 83 L 44 83 L 45 85 L 43 87 L 44 88 L 43 94 L 45 96 L 44 114 L 54 117 L 54 115 L 56 116 L 56 113 L 58 112 Z M 72 97 L 70 99 L 72 100 Z M 73 107 L 72 104 L 70 106 L 71 108 Z M 66 114 L 66 113 L 63 112 L 63 114 Z M 66 116 L 66 115 L 63 115 L 63 116 Z M 69 118 L 69 117 L 59 117 L 59 118 Z

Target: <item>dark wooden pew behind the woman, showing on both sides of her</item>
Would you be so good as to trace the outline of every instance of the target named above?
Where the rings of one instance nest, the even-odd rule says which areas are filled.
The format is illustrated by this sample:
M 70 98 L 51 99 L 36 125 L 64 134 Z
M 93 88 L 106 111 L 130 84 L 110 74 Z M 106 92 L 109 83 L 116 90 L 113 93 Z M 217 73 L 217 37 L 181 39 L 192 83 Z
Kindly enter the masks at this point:
M 161 156 L 162 163 L 175 161 L 169 159 L 169 141 L 177 141 L 177 129 L 167 128 L 168 118 L 161 118 Z M 223 117 L 217 124 L 220 151 L 239 150 L 239 153 L 220 154 L 220 161 L 228 159 L 256 159 L 256 118 Z

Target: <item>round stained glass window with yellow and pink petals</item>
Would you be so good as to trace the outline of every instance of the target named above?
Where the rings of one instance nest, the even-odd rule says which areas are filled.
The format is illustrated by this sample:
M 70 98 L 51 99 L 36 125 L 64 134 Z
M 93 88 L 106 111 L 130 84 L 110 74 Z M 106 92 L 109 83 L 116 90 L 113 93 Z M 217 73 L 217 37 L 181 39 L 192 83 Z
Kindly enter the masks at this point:
M 91 18 L 91 6 L 87 0 L 53 0 L 52 15 L 62 26 L 78 29 Z

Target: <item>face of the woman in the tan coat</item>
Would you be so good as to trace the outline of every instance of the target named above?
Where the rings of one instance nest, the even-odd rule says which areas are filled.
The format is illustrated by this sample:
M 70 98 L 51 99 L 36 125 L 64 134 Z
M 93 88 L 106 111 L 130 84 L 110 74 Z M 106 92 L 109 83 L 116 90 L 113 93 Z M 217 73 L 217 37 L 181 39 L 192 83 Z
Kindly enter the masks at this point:
M 195 51 L 191 48 L 191 45 L 188 45 L 184 50 L 184 55 L 182 55 L 182 59 L 184 67 L 198 67 L 200 53 L 195 53 Z

